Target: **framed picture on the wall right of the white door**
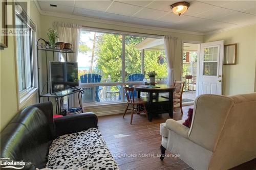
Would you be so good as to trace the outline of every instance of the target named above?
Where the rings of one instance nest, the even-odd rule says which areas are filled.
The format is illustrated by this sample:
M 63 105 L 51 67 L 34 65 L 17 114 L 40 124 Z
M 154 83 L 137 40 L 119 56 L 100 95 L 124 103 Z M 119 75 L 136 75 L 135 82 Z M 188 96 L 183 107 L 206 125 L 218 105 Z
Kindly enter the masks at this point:
M 237 64 L 237 43 L 224 45 L 224 65 Z

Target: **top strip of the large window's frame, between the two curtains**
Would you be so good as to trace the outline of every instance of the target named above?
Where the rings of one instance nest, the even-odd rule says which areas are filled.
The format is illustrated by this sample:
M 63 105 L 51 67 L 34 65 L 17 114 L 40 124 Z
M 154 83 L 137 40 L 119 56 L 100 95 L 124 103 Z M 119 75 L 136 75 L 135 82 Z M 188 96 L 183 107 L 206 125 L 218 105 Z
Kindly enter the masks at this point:
M 127 34 L 127 35 L 133 35 L 137 34 L 139 36 L 149 36 L 149 37 L 158 37 L 158 38 L 163 38 L 164 35 L 160 34 L 150 34 L 150 33 L 139 33 L 139 32 L 130 32 L 130 31 L 120 31 L 120 30 L 115 30 L 115 29 L 102 29 L 102 28 L 97 28 L 97 27 L 88 27 L 88 26 L 82 26 L 82 29 L 88 29 L 92 31 L 102 31 L 102 32 L 114 32 L 114 33 L 120 33 L 120 34 Z

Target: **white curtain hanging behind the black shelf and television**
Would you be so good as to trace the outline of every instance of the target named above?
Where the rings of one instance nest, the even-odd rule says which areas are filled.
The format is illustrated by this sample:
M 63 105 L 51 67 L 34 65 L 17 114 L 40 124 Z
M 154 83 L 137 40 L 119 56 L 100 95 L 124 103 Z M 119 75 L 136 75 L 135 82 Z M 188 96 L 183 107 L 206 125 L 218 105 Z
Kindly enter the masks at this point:
M 72 50 L 75 53 L 70 53 L 67 55 L 67 59 L 69 62 L 77 62 L 77 56 L 78 56 L 78 49 L 79 49 L 79 39 L 80 39 L 80 25 L 76 25 L 73 23 L 64 23 L 55 21 L 53 23 L 54 29 L 58 32 L 58 41 L 59 42 L 65 42 L 65 43 L 71 43 L 72 44 Z M 66 61 L 65 54 L 62 54 L 63 59 Z M 78 93 L 75 93 L 73 95 L 69 96 L 69 107 L 78 107 Z

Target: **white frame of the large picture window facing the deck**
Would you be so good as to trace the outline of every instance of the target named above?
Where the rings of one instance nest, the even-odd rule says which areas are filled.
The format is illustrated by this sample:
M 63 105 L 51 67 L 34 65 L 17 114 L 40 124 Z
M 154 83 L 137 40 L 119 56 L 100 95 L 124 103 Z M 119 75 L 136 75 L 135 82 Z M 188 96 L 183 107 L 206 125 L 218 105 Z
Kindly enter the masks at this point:
M 142 81 L 137 82 L 127 82 L 125 81 L 125 36 L 137 36 L 137 37 L 146 37 L 146 38 L 156 38 L 156 39 L 164 39 L 164 36 L 160 35 L 148 35 L 148 34 L 141 34 L 141 33 L 129 33 L 129 32 L 122 32 L 122 31 L 116 31 L 116 30 L 108 30 L 108 29 L 94 29 L 94 28 L 88 28 L 88 27 L 82 27 L 81 30 L 84 31 L 92 31 L 92 32 L 98 32 L 98 33 L 106 33 L 106 34 L 120 34 L 122 36 L 122 63 L 121 63 L 121 81 L 120 82 L 100 82 L 100 83 L 81 83 L 79 80 L 79 86 L 81 88 L 93 88 L 93 93 L 95 93 L 95 87 L 96 86 L 117 86 L 124 84 L 127 85 L 142 85 Z M 167 68 L 168 69 L 168 68 Z M 167 83 L 167 80 L 161 80 L 158 81 L 159 83 Z M 116 104 L 116 103 L 124 103 L 125 102 L 125 94 L 123 88 L 121 88 L 121 100 L 120 101 L 108 101 L 108 102 L 96 102 L 94 99 L 94 102 L 88 102 L 88 103 L 82 103 L 84 106 L 93 106 L 93 105 L 102 105 L 102 104 Z

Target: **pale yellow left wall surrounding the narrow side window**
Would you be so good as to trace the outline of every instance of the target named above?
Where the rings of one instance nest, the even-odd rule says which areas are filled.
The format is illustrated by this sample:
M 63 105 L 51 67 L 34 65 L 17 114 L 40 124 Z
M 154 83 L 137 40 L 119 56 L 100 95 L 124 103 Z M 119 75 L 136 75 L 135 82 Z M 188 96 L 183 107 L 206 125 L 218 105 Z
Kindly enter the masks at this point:
M 36 39 L 40 37 L 40 14 L 33 1 L 29 1 L 30 7 L 30 18 L 37 26 Z M 1 131 L 10 122 L 13 116 L 19 110 L 18 106 L 18 93 L 17 93 L 17 80 L 16 80 L 16 55 L 15 55 L 15 44 L 14 36 L 8 36 L 8 48 L 0 50 L 1 60 Z M 30 100 L 28 100 L 25 106 L 37 103 L 37 95 L 34 94 Z

